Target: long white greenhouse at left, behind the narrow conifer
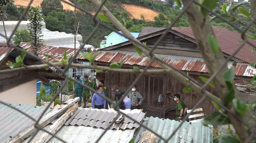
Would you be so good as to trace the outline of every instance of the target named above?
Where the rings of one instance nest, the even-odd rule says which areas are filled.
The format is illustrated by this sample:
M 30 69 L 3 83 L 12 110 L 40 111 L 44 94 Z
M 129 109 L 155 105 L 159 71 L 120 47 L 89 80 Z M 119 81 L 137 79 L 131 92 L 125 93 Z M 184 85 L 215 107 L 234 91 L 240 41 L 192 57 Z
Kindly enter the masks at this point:
M 19 21 L 5 21 L 5 28 L 7 30 L 7 36 L 9 37 L 12 34 L 12 31 L 16 27 Z M 18 28 L 19 29 L 28 29 L 27 24 L 29 21 L 21 21 Z M 76 42 L 74 40 L 74 34 L 68 34 L 65 32 L 58 32 L 58 31 L 50 31 L 45 28 L 45 23 L 42 23 L 42 40 L 44 45 L 52 45 L 55 47 L 69 47 L 74 48 L 74 43 L 76 43 L 76 48 L 80 47 L 80 43 L 83 42 L 83 37 L 80 34 L 76 34 Z M 0 33 L 4 34 L 3 24 L 0 23 Z M 4 37 L 0 37 L 0 43 L 6 43 L 6 39 Z

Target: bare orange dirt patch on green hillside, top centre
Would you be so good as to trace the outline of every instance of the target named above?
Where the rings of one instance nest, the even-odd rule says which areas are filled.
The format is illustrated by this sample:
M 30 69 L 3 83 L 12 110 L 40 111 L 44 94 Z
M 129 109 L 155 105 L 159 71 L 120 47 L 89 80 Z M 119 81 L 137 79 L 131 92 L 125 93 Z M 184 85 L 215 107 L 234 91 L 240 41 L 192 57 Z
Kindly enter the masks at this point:
M 141 7 L 138 5 L 129 5 L 129 4 L 122 4 L 127 12 L 131 13 L 132 18 L 140 19 L 140 15 L 143 14 L 146 21 L 152 21 L 155 16 L 159 14 L 159 12 L 155 12 L 149 8 Z

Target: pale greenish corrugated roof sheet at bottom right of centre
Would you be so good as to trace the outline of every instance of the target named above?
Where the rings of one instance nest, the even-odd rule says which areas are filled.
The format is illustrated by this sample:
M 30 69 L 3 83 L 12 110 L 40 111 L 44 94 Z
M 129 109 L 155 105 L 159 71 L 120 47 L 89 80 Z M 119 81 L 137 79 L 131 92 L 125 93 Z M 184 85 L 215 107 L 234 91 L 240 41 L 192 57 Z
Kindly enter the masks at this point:
M 169 138 L 173 131 L 179 126 L 181 122 L 170 119 L 159 118 L 145 118 L 142 124 L 152 129 L 163 138 Z M 140 139 L 142 132 L 146 131 L 145 128 L 140 128 L 134 138 L 137 143 Z M 182 138 L 180 138 L 182 136 Z M 168 141 L 168 143 L 213 143 L 213 130 L 209 127 L 203 126 L 201 122 L 189 124 L 186 122 L 182 124 L 179 130 Z M 156 143 L 164 143 L 163 140 L 157 138 Z

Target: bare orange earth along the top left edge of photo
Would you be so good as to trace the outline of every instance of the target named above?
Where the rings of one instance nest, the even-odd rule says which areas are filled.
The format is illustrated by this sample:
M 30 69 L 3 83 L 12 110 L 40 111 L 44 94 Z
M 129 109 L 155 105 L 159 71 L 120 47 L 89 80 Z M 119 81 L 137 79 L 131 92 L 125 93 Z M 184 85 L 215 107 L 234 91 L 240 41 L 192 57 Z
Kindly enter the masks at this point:
M 38 7 L 38 6 L 40 7 L 40 3 L 42 1 L 43 0 L 34 0 L 31 5 L 32 6 L 36 6 L 36 7 Z M 68 0 L 65 0 L 65 1 L 69 2 Z M 30 2 L 30 0 L 15 0 L 14 4 L 17 5 L 17 6 L 27 7 L 29 2 Z M 65 10 L 72 10 L 72 11 L 74 10 L 74 7 L 68 5 L 68 4 L 64 3 L 64 2 L 61 2 L 61 3 L 62 3 L 63 8 Z

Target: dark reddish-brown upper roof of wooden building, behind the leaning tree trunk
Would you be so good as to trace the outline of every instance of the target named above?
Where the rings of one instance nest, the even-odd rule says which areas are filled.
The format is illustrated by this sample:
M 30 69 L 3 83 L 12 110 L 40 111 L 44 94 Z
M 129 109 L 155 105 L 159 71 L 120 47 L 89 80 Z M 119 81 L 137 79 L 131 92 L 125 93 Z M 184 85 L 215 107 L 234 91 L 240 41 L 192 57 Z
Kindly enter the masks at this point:
M 240 34 L 232 32 L 223 27 L 212 27 L 212 28 L 216 36 L 216 39 L 219 42 L 220 49 L 222 52 L 228 55 L 232 55 L 234 51 L 242 44 L 242 42 L 237 44 L 237 41 L 242 40 Z M 164 29 L 165 28 L 160 28 L 160 27 L 142 27 L 142 31 L 140 32 L 139 37 L 152 34 L 154 32 L 157 32 L 159 30 L 164 30 Z M 192 39 L 195 39 L 191 27 L 181 27 L 181 28 L 172 27 L 172 29 Z M 248 39 L 248 41 L 256 45 L 256 40 Z M 237 54 L 235 54 L 234 57 L 242 61 L 248 62 L 250 64 L 253 63 L 254 58 L 256 57 L 256 52 L 252 53 L 251 50 L 249 50 L 250 48 L 253 48 L 253 47 L 249 44 L 244 45 L 242 49 L 239 50 Z

